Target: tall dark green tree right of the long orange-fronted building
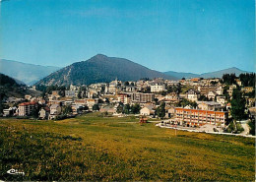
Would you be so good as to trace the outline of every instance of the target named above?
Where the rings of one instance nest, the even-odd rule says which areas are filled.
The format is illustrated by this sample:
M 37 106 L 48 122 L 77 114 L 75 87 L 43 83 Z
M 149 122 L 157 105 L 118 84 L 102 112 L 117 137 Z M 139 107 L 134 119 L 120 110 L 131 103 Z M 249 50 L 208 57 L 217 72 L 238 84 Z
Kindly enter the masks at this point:
M 245 118 L 245 99 L 242 96 L 242 93 L 239 90 L 234 90 L 232 93 L 231 99 L 231 115 L 233 119 L 241 120 Z

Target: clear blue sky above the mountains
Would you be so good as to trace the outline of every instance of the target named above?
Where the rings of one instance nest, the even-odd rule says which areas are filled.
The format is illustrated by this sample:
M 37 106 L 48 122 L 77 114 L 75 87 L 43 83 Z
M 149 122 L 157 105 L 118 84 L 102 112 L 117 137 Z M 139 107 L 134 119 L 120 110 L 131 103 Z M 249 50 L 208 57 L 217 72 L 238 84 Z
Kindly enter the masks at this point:
M 158 71 L 255 71 L 254 0 L 9 0 L 0 58 L 64 67 L 97 53 Z

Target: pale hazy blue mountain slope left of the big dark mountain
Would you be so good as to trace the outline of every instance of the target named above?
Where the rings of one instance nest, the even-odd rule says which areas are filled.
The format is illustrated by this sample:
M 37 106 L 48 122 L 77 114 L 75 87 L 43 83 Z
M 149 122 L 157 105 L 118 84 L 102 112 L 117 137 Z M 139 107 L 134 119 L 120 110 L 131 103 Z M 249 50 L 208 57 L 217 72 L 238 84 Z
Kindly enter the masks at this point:
M 18 61 L 11 61 L 0 59 L 0 73 L 14 78 L 20 84 L 32 86 L 40 79 L 48 76 L 49 74 L 59 70 L 58 67 L 40 66 L 28 63 L 21 63 Z

